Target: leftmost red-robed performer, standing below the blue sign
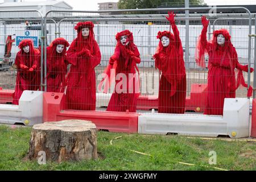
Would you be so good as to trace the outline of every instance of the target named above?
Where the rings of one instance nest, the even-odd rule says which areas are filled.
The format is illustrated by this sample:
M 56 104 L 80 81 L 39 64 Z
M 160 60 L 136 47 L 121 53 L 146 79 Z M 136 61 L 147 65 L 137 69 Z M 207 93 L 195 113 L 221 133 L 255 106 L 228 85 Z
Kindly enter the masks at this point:
M 40 51 L 34 48 L 30 39 L 24 39 L 19 43 L 20 51 L 15 58 L 17 67 L 15 92 L 13 104 L 19 105 L 19 98 L 24 90 L 38 90 L 38 72 Z

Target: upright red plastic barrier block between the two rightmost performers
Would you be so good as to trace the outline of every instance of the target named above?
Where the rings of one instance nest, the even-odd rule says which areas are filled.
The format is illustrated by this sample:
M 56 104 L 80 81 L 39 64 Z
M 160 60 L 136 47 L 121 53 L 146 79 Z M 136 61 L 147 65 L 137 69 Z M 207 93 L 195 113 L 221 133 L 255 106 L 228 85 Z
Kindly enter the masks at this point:
M 207 84 L 192 84 L 190 97 L 186 98 L 185 110 L 204 112 L 207 102 Z

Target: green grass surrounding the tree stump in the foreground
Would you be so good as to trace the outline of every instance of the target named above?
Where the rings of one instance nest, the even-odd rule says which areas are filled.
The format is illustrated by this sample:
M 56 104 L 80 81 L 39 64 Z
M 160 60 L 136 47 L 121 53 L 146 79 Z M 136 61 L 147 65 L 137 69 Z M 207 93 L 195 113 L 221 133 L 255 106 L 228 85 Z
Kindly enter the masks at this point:
M 98 160 L 39 165 L 36 161 L 24 160 L 30 132 L 30 127 L 11 129 L 0 126 L 0 170 L 217 170 L 212 167 L 256 170 L 256 142 L 103 131 L 97 133 Z M 119 136 L 122 137 L 114 139 Z M 216 151 L 216 165 L 208 164 L 209 151 Z

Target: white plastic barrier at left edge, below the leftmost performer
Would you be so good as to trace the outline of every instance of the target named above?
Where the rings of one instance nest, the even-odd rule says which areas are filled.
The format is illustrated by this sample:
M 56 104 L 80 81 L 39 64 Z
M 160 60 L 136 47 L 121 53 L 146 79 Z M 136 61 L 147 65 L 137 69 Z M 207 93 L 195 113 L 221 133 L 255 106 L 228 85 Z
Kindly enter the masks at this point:
M 24 90 L 19 105 L 0 104 L 0 123 L 27 126 L 43 123 L 43 92 Z

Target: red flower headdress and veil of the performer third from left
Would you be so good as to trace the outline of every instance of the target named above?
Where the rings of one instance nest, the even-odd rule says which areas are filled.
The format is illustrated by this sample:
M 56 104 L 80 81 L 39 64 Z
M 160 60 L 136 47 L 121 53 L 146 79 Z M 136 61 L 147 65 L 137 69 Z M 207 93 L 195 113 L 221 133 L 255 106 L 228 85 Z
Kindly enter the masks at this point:
M 93 22 L 79 22 L 75 26 L 75 30 L 77 31 L 77 51 L 81 51 L 82 48 L 86 47 L 90 51 L 92 51 L 92 43 L 94 41 L 94 32 L 93 32 L 94 24 Z M 82 28 L 89 28 L 89 36 L 87 39 L 82 37 Z

